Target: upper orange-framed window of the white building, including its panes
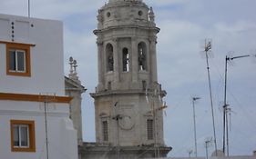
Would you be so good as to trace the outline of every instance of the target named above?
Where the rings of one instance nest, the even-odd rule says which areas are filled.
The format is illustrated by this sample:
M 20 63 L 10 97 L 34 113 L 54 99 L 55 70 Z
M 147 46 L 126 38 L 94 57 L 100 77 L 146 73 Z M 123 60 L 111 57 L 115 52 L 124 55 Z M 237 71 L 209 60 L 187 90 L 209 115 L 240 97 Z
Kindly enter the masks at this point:
M 30 45 L 6 44 L 6 74 L 30 76 Z

